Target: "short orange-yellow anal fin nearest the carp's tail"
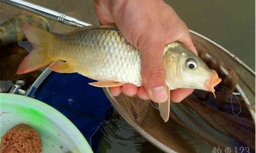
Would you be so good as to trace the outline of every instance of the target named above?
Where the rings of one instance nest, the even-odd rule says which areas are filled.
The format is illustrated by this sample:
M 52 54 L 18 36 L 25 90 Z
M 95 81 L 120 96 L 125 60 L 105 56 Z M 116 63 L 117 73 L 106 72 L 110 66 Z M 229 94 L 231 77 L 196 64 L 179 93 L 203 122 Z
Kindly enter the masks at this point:
M 58 61 L 49 66 L 49 68 L 58 73 L 75 73 L 76 71 L 67 62 Z

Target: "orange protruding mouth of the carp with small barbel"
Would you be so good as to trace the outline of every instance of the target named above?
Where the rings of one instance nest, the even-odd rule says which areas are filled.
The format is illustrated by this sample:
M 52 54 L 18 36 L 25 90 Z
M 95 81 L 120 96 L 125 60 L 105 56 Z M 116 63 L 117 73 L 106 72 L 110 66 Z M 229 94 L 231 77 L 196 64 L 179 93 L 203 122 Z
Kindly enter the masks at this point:
M 206 81 L 206 90 L 213 93 L 214 97 L 215 97 L 214 87 L 217 86 L 220 82 L 221 82 L 221 79 L 219 78 L 218 73 L 215 70 L 212 70 L 210 79 Z

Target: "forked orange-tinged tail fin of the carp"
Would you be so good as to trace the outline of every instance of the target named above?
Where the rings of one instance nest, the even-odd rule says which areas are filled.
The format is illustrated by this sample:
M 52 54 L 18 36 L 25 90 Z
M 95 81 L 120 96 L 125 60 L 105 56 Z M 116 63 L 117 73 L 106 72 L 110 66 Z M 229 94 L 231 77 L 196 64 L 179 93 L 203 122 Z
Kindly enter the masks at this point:
M 20 63 L 17 74 L 28 73 L 51 64 L 49 57 L 51 42 L 56 37 L 53 34 L 32 25 L 24 25 L 23 32 L 33 45 L 32 52 Z

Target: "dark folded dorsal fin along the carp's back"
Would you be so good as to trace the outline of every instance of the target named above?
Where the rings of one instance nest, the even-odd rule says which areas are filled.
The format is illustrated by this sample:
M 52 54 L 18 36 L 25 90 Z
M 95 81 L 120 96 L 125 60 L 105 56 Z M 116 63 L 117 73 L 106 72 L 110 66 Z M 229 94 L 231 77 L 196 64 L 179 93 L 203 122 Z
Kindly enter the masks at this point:
M 93 29 L 109 29 L 109 30 L 116 30 L 116 31 L 118 31 L 118 28 L 116 27 L 115 24 L 109 24 L 109 25 L 89 25 L 89 26 L 85 26 L 85 27 L 81 27 L 81 28 L 75 29 L 74 31 L 70 32 L 68 34 L 68 36 L 72 35 L 74 33 L 77 33 L 77 32 L 86 31 L 86 30 L 93 30 Z

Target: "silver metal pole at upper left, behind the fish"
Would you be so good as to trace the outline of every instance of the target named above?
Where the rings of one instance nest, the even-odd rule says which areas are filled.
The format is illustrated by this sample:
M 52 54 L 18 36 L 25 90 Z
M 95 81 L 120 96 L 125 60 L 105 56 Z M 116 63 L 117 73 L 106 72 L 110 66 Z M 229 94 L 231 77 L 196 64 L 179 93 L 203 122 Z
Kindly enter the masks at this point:
M 0 2 L 3 2 L 5 4 L 11 5 L 11 6 L 14 6 L 14 7 L 17 7 L 17 8 L 20 8 L 20 9 L 38 14 L 38 15 L 41 15 L 41 16 L 44 16 L 44 17 L 47 17 L 47 18 L 50 18 L 52 20 L 55 20 L 55 21 L 58 21 L 58 22 L 61 22 L 61 23 L 71 25 L 73 27 L 80 28 L 80 27 L 91 25 L 87 22 L 80 21 L 80 20 L 78 20 L 76 18 L 73 18 L 71 16 L 68 16 L 64 13 L 60 13 L 60 12 L 57 12 L 57 11 L 54 11 L 54 10 L 51 10 L 51 9 L 48 9 L 48 8 L 45 8 L 45 7 L 41 7 L 39 5 L 29 3 L 29 2 L 26 2 L 26 1 L 22 1 L 22 0 L 0 0 Z

